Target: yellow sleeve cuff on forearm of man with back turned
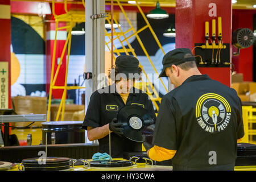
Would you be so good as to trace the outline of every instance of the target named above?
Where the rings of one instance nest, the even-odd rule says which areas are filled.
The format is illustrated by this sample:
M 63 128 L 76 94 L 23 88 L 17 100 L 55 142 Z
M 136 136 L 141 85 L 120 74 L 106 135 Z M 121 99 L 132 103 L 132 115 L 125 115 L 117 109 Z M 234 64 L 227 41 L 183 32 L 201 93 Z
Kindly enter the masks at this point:
M 156 161 L 163 161 L 163 160 L 169 160 L 174 157 L 176 154 L 176 150 L 168 150 L 163 147 L 154 146 L 150 148 L 148 151 L 148 157 L 152 160 Z

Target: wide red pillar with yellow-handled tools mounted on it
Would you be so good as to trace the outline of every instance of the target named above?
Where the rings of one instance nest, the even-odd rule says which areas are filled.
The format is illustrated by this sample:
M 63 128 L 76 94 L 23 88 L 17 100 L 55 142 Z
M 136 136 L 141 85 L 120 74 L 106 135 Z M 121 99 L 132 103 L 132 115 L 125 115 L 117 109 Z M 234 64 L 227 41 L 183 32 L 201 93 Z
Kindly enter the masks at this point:
M 212 6 L 216 5 L 216 16 L 212 15 Z M 210 11 L 210 15 L 209 15 Z M 176 0 L 175 11 L 175 28 L 176 28 L 176 48 L 195 47 L 195 43 L 205 43 L 205 22 L 210 23 L 209 32 L 211 32 L 212 19 L 216 19 L 217 34 L 217 17 L 222 17 L 222 38 L 224 43 L 229 43 L 231 49 L 232 43 L 232 3 L 223 0 Z M 214 15 L 214 14 L 213 14 Z M 231 52 L 231 51 L 230 51 Z M 231 53 L 230 53 L 231 60 Z M 209 75 L 213 80 L 222 82 L 230 86 L 231 69 L 228 68 L 199 68 L 202 74 Z

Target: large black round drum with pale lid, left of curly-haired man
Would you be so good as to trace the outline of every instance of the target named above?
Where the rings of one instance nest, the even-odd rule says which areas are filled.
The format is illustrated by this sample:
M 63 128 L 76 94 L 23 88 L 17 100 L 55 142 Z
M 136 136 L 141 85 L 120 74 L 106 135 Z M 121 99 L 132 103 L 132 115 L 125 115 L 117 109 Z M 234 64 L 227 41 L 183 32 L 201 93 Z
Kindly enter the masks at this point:
M 43 144 L 85 143 L 82 121 L 51 121 L 42 123 Z

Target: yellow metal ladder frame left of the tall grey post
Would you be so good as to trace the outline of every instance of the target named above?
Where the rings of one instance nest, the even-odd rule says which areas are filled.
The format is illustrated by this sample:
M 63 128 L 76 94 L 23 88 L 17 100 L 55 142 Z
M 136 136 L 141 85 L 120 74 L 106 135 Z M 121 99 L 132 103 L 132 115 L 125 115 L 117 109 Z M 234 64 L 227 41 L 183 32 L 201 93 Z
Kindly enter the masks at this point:
M 68 86 L 67 85 L 67 78 L 68 78 L 68 65 L 69 65 L 69 55 L 70 55 L 70 49 L 71 49 L 71 31 L 73 26 L 76 22 L 85 22 L 85 14 L 73 14 L 68 11 L 67 9 L 67 0 L 64 1 L 64 9 L 65 14 L 56 15 L 55 13 L 55 0 L 52 0 L 52 14 L 55 17 L 55 40 L 53 44 L 53 56 L 52 56 L 52 70 L 51 70 L 51 82 L 50 82 L 50 88 L 49 88 L 49 102 L 48 102 L 48 110 L 47 110 L 47 121 L 49 121 L 49 113 L 51 111 L 51 100 L 52 100 L 52 90 L 53 89 L 63 89 L 63 95 L 61 97 L 60 106 L 57 111 L 56 119 L 55 121 L 59 120 L 60 111 L 61 111 L 61 121 L 64 121 L 64 111 L 65 111 L 65 99 L 67 97 L 67 90 L 72 89 L 82 89 L 85 88 L 83 86 Z M 82 4 L 85 6 L 84 0 L 82 0 Z M 59 27 L 59 22 L 68 22 L 69 24 L 64 27 Z M 67 40 L 65 41 L 63 51 L 61 52 L 60 62 L 57 66 L 56 72 L 54 73 L 54 67 L 55 67 L 55 60 L 56 60 L 56 42 L 57 42 L 57 31 L 66 29 L 68 31 Z M 67 51 L 68 47 L 68 51 Z M 66 64 L 66 70 L 65 70 L 65 82 L 63 86 L 56 86 L 56 79 L 60 71 L 60 65 L 63 61 L 63 57 L 65 55 L 65 51 L 67 51 L 67 64 Z M 52 119 L 52 118 L 51 118 Z

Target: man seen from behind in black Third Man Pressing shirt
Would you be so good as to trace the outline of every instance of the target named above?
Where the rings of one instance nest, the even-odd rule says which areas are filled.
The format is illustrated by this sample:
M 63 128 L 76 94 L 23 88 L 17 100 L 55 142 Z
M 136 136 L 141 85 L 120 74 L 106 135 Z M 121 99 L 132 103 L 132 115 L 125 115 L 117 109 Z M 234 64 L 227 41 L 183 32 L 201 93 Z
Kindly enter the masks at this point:
M 202 75 L 188 48 L 163 57 L 159 77 L 175 89 L 161 101 L 148 157 L 172 159 L 174 170 L 234 170 L 244 135 L 241 100 L 234 89 Z

